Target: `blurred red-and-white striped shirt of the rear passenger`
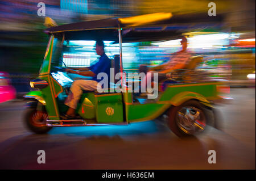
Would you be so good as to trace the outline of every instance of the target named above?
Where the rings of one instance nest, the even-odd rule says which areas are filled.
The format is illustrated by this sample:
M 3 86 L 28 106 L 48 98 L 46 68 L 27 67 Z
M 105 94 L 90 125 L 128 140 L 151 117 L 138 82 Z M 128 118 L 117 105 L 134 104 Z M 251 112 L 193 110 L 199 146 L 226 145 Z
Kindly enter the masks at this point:
M 183 68 L 191 61 L 191 53 L 185 50 L 185 52 L 176 52 L 171 55 L 171 58 L 164 65 L 163 70 L 172 69 L 177 64 L 184 64 Z

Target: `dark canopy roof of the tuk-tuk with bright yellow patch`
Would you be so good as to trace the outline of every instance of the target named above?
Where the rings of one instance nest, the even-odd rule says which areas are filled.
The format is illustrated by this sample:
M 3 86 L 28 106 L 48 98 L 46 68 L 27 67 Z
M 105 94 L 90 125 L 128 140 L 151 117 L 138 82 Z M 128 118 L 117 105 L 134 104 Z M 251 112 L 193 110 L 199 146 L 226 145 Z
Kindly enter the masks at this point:
M 122 41 L 154 41 L 167 37 L 176 39 L 182 33 L 221 26 L 222 16 L 204 14 L 172 15 L 155 13 L 129 18 L 109 18 L 64 24 L 46 29 L 46 33 L 64 33 L 65 40 L 112 40 L 118 41 L 118 28 L 122 28 Z

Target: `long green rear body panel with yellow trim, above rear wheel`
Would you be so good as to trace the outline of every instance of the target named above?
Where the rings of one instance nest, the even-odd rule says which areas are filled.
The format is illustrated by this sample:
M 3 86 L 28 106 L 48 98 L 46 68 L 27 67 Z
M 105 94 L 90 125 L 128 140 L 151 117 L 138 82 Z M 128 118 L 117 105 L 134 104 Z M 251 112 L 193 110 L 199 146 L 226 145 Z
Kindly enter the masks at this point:
M 187 83 L 170 85 L 159 95 L 155 103 L 132 103 L 132 94 L 124 93 L 125 111 L 127 122 L 152 120 L 160 116 L 168 108 L 180 106 L 190 99 L 196 99 L 204 104 L 209 104 L 208 98 L 217 96 L 216 85 L 212 83 Z

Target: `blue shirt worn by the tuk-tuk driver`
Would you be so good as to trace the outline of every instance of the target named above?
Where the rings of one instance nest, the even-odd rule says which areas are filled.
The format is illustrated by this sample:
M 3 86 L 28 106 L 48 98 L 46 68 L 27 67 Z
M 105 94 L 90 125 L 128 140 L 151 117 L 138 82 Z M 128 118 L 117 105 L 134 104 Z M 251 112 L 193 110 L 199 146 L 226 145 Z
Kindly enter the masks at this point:
M 95 74 L 95 76 L 92 78 L 93 81 L 97 81 L 100 82 L 102 81 L 103 77 L 100 77 L 100 79 L 97 79 L 97 75 L 98 73 L 104 72 L 108 75 L 108 81 L 110 80 L 110 65 L 111 65 L 111 61 L 109 59 L 108 56 L 106 56 L 106 54 L 102 54 L 102 56 L 100 57 L 100 60 L 90 66 L 90 70 Z

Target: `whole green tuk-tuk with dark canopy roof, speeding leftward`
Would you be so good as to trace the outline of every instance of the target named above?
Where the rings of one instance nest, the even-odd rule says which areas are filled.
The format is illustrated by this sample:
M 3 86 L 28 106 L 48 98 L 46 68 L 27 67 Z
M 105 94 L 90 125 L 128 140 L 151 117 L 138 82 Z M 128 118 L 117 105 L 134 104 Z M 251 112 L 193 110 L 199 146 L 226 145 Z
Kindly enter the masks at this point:
M 195 22 L 199 22 L 200 18 L 203 17 L 195 17 Z M 137 121 L 154 120 L 163 115 L 168 116 L 169 127 L 179 137 L 202 132 L 207 125 L 215 126 L 216 123 L 210 121 L 208 112 L 214 111 L 214 100 L 221 99 L 218 90 L 222 83 L 216 79 L 183 79 L 187 76 L 184 73 L 186 70 L 179 70 L 182 76 L 168 76 L 169 78 L 160 82 L 158 97 L 150 100 L 145 98 L 144 102 L 138 101 L 135 94 L 129 91 L 86 91 L 82 94 L 76 110 L 82 118 L 60 119 L 60 113 L 67 111 L 64 100 L 67 98 L 69 87 L 74 79 L 81 78 L 72 77 L 64 69 L 67 62 L 64 62 L 63 57 L 70 57 L 68 54 L 64 55 L 63 50 L 76 48 L 70 46 L 72 41 L 100 38 L 118 44 L 115 49 L 118 49 L 119 54 L 113 57 L 112 68 L 115 72 L 123 73 L 122 43 L 178 39 L 183 32 L 168 26 L 178 20 L 183 23 L 184 19 L 175 18 L 170 13 L 160 13 L 48 28 L 46 33 L 49 35 L 49 42 L 43 64 L 39 76 L 30 83 L 31 87 L 37 90 L 24 95 L 24 98 L 28 99 L 24 114 L 27 127 L 30 131 L 40 134 L 47 133 L 52 127 L 129 125 Z M 198 62 L 201 57 L 192 59 Z M 195 66 L 189 71 L 191 69 L 195 69 Z M 126 77 L 122 77 L 120 81 L 121 85 L 129 90 Z M 112 86 L 120 85 L 115 81 Z M 109 90 L 112 88 L 110 86 Z

